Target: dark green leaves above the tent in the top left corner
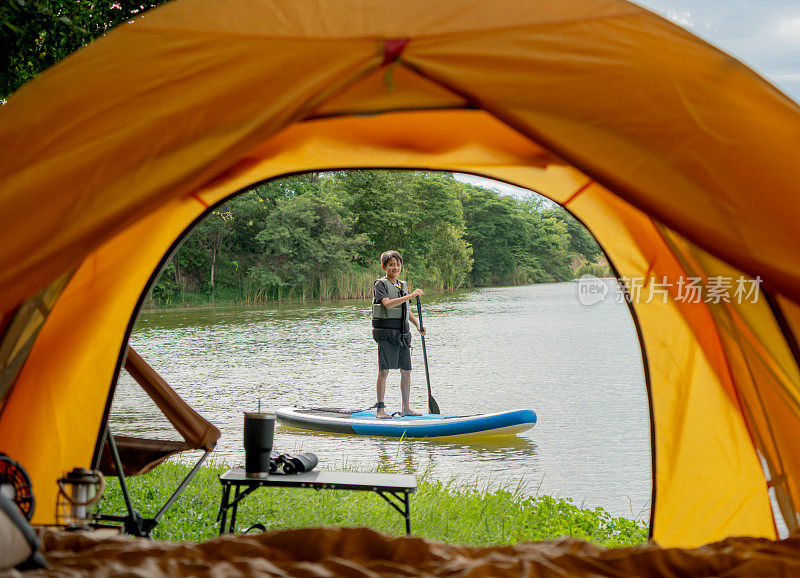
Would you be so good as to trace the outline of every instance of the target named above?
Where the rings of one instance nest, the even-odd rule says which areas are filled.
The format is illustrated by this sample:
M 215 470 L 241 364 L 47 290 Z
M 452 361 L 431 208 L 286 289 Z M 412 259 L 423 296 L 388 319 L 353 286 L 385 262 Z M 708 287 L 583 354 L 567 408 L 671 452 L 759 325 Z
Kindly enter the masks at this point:
M 4 0 L 0 99 L 93 39 L 166 0 Z

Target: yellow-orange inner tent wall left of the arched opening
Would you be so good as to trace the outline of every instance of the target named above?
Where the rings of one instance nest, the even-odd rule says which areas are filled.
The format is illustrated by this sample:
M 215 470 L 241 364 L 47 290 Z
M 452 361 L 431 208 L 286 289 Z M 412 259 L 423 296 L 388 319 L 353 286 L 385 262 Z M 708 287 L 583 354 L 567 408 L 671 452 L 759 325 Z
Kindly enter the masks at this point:
M 160 222 L 137 223 L 109 243 L 114 251 L 86 259 L 34 342 L 0 413 L 0 440 L 8 455 L 20 456 L 37 503 L 53 504 L 36 509 L 35 523 L 54 521 L 55 480 L 74 467 L 69 464 L 87 467 L 99 458 L 111 384 L 127 351 L 124 335 L 160 258 L 153 252 L 168 250 L 175 232 L 196 215 L 195 206 L 203 207 L 193 201 L 182 211 L 168 204 Z

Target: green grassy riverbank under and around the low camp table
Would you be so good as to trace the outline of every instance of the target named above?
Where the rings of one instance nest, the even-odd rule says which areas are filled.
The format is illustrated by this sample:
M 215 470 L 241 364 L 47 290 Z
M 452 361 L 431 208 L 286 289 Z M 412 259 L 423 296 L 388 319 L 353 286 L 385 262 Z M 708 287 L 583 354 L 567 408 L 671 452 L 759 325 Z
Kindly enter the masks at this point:
M 164 515 L 153 537 L 167 541 L 203 541 L 219 531 L 219 475 L 227 466 L 200 469 L 183 495 Z M 143 476 L 129 478 L 135 507 L 155 512 L 178 486 L 189 467 L 165 463 Z M 616 547 L 647 540 L 644 523 L 614 518 L 602 508 L 585 509 L 570 500 L 529 497 L 519 488 L 486 491 L 480 484 L 442 483 L 422 474 L 411 498 L 415 536 L 451 544 L 494 546 L 572 536 L 600 546 Z M 122 513 L 124 503 L 115 478 L 108 479 L 100 502 L 103 512 Z M 240 530 L 255 523 L 268 530 L 309 526 L 368 526 L 402 535 L 403 520 L 371 492 L 259 490 L 239 506 Z

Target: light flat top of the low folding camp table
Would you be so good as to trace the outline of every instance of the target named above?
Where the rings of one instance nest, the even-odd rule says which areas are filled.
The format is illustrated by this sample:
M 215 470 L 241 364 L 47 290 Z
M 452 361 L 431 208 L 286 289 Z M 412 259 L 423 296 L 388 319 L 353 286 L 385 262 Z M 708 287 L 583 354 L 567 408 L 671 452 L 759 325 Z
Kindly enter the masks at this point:
M 417 478 L 410 474 L 373 474 L 361 472 L 329 472 L 312 470 L 302 474 L 270 474 L 265 477 L 247 475 L 244 468 L 233 468 L 219 477 L 223 484 L 237 486 L 279 486 L 292 488 L 384 490 L 413 492 Z

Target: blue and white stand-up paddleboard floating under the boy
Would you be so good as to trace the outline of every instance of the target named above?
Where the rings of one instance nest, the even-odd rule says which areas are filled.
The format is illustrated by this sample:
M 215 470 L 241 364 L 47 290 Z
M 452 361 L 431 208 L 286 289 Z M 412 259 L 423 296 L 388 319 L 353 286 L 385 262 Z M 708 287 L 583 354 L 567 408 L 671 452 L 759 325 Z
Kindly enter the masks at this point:
M 378 419 L 375 410 L 282 407 L 275 415 L 281 425 L 296 429 L 394 438 L 514 435 L 536 425 L 536 413 L 529 409 L 477 415 L 426 414 Z

